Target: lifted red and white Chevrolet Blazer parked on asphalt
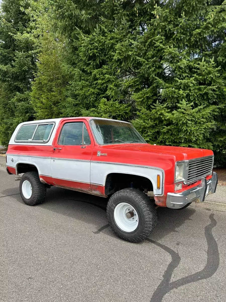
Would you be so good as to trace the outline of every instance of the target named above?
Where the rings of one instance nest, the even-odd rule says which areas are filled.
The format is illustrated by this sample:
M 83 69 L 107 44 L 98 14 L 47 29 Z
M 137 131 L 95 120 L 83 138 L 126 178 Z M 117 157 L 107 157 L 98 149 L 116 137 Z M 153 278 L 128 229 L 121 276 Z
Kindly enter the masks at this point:
M 113 231 L 139 242 L 155 228 L 156 207 L 184 209 L 215 193 L 213 160 L 211 150 L 150 145 L 127 122 L 73 117 L 19 124 L 6 169 L 22 174 L 20 195 L 30 206 L 51 186 L 108 198 Z

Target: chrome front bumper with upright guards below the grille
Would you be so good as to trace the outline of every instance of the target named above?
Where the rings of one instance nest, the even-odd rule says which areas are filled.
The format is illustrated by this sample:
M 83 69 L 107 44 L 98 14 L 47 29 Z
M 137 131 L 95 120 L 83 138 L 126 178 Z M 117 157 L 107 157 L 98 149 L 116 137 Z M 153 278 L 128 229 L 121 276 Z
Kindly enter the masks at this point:
M 166 206 L 172 209 L 180 209 L 190 202 L 203 202 L 207 195 L 216 192 L 218 183 L 217 173 L 213 172 L 212 178 L 208 181 L 202 177 L 200 185 L 182 193 L 168 193 Z

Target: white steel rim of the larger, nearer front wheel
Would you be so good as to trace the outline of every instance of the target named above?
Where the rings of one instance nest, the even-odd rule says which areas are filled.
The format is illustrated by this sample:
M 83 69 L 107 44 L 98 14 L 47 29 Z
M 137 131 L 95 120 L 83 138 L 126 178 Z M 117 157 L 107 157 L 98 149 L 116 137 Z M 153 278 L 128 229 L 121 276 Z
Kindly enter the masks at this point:
M 127 213 L 129 213 L 130 216 L 134 214 L 134 216 L 127 218 Z M 131 204 L 128 204 L 127 202 L 121 202 L 120 204 L 117 204 L 114 210 L 114 218 L 116 225 L 122 231 L 127 233 L 136 230 L 139 223 L 137 211 L 133 206 L 131 206 Z

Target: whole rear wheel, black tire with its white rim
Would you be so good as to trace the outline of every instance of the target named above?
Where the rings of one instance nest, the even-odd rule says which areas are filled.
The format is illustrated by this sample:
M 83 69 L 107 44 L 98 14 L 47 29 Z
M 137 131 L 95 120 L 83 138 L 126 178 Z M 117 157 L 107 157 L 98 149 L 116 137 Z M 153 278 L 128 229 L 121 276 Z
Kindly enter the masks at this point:
M 27 172 L 20 179 L 20 196 L 25 204 L 41 204 L 46 197 L 46 185 L 40 182 L 38 172 Z

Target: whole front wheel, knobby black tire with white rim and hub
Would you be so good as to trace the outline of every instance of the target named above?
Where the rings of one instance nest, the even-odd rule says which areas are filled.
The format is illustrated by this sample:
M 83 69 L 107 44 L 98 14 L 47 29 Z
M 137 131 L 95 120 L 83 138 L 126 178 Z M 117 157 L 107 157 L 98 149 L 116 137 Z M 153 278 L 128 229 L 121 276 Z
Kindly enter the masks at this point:
M 127 188 L 111 196 L 107 205 L 113 231 L 130 242 L 140 242 L 154 230 L 157 213 L 149 197 L 138 189 Z

